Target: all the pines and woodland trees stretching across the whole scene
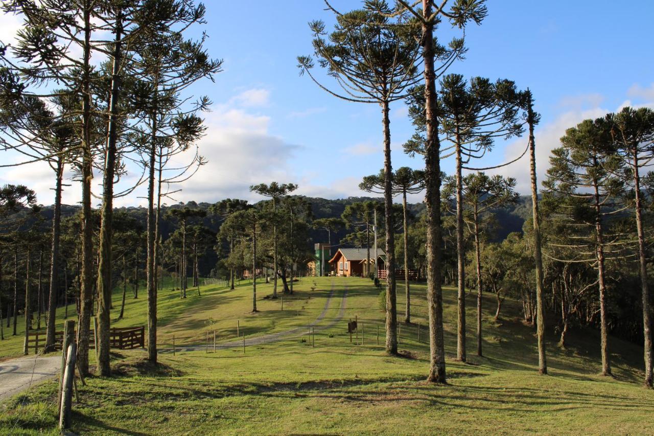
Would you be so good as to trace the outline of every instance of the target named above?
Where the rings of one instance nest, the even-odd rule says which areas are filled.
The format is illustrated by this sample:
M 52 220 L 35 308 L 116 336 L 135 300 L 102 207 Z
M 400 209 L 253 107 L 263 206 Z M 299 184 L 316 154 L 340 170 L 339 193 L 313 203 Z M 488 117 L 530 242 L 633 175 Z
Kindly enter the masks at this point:
M 562 147 L 553 151 L 545 191 L 539 193 L 534 128 L 540 115 L 532 92 L 510 79 L 466 79 L 451 71 L 466 54 L 465 27 L 487 16 L 485 1 L 397 0 L 390 6 L 366 0 L 349 12 L 327 5 L 336 24 L 330 30 L 319 20 L 309 24 L 313 56 L 299 56 L 298 68 L 332 96 L 379 105 L 383 170 L 364 177 L 360 188 L 382 194 L 383 202 L 349 202 L 340 217 L 320 213 L 315 219 L 309 201 L 292 195 L 297 189 L 292 183 L 250 187 L 266 199 L 254 205 L 226 199 L 208 208 L 163 208 L 163 200 L 177 191 L 175 183 L 205 163 L 196 143 L 205 131 L 200 113 L 211 101 L 194 99 L 188 88 L 213 79 L 222 62 L 205 52 L 204 36 L 185 36 L 204 24 L 202 5 L 192 0 L 5 1 L 3 10 L 20 14 L 25 25 L 15 45 L 0 47 L 2 146 L 24 156 L 16 165 L 46 162 L 55 193 L 51 237 L 44 243 L 46 229 L 33 191 L 7 186 L 0 192 L 0 274 L 4 278 L 13 271 L 12 279 L 0 280 L 13 290 L 7 325 L 10 311 L 15 332 L 22 310 L 27 335 L 44 315 L 46 346 L 52 347 L 54 310 L 67 305 L 72 293 L 80 369 L 88 371 L 90 319 L 97 316 L 97 369 L 109 374 L 111 292 L 122 282 L 124 302 L 131 283 L 137 298 L 143 270 L 148 358 L 156 362 L 156 301 L 164 271 L 186 298 L 188 289 L 199 284 L 199 259 L 214 247 L 220 257 L 215 275 L 228 274 L 232 287 L 245 271 L 253 278 L 256 312 L 258 276 L 272 280 L 271 298 L 292 293 L 294 276 L 313 259 L 311 232 L 326 232 L 328 245 L 336 245 L 336 235 L 347 229 L 353 231 L 340 244 L 385 247 L 389 354 L 398 353 L 395 270 L 417 269 L 426 278 L 430 382 L 447 380 L 442 286 L 452 284 L 458 294 L 460 361 L 467 358 L 466 297 L 475 289 L 478 355 L 483 354 L 485 293 L 494 294 L 496 318 L 511 296 L 523 302 L 525 321 L 536 325 L 542 374 L 547 373 L 545 320 L 552 315 L 560 319 L 562 345 L 571 324 L 600 329 L 604 374 L 611 372 L 610 330 L 643 340 L 645 384 L 652 386 L 647 261 L 653 177 L 647 168 L 654 158 L 653 112 L 626 108 L 570 128 Z M 441 42 L 444 24 L 460 30 L 461 37 Z M 333 82 L 322 81 L 316 64 Z M 422 170 L 393 170 L 389 111 L 398 101 L 407 104 L 416 128 L 404 151 L 424 160 Z M 515 160 L 489 168 L 475 163 L 492 152 L 497 140 L 523 136 L 525 149 Z M 192 158 L 180 166 L 182 153 Z M 455 160 L 451 175 L 441 172 L 446 158 Z M 523 232 L 496 242 L 498 217 L 519 196 L 515 179 L 487 172 L 501 172 L 521 158 L 529 161 L 530 219 Z M 81 189 L 82 204 L 75 217 L 62 219 L 66 168 Z M 97 210 L 92 208 L 94 174 L 102 180 Z M 147 191 L 143 227 L 113 207 L 114 198 L 139 185 Z M 413 217 L 407 195 L 418 192 L 424 192 L 424 211 Z M 394 203 L 396 196 L 401 204 Z M 163 231 L 164 223 L 173 223 L 175 230 Z M 376 229 L 383 234 L 380 241 L 374 240 Z M 20 310 L 19 282 L 25 291 Z M 410 283 L 404 287 L 404 320 L 410 323 Z M 637 288 L 640 298 L 625 292 L 627 287 Z M 0 297 L 7 295 L 0 291 Z M 5 300 L 0 308 L 7 306 Z M 633 314 L 636 302 L 640 319 L 616 313 Z

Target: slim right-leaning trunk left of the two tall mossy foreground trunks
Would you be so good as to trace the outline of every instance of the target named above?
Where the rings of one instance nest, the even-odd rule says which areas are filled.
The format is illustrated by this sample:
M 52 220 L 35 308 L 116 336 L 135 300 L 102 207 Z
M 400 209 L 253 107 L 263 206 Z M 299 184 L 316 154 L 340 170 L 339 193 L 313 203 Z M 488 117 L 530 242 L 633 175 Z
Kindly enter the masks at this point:
M 54 215 L 52 215 L 52 245 L 50 252 L 50 295 L 48 297 L 48 325 L 46 326 L 45 352 L 54 348 L 54 330 L 56 325 L 56 297 L 59 282 L 59 245 L 61 238 L 61 189 L 63 180 L 63 159 L 57 158 L 56 185 L 54 189 Z M 68 306 L 66 306 L 66 312 Z

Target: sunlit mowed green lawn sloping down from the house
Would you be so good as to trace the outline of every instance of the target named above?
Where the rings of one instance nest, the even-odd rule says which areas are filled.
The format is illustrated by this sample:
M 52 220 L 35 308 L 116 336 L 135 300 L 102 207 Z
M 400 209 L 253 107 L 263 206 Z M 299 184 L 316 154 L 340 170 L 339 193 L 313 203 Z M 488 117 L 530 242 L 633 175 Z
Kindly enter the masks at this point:
M 317 288 L 311 291 L 313 281 Z M 519 304 L 507 300 L 492 321 L 486 297 L 483 347 L 475 355 L 475 297 L 468 297 L 468 363 L 456 351 L 456 292 L 444 291 L 448 384 L 426 384 L 428 342 L 424 285 L 411 283 L 413 323 L 402 324 L 401 357 L 383 349 L 384 314 L 379 290 L 359 278 L 303 278 L 297 299 L 264 299 L 258 286 L 251 314 L 250 285 L 203 287 L 179 299 L 160 291 L 160 365 L 143 350 L 116 351 L 110 378 L 87 379 L 73 405 L 80 434 L 653 434 L 654 391 L 641 386 L 642 348 L 611 338 L 615 378 L 598 375 L 599 338 L 573 331 L 570 346 L 549 336 L 550 374 L 536 373 L 534 328 L 521 321 Z M 328 296 L 334 291 L 325 311 Z M 343 296 L 344 310 L 341 310 Z M 116 313 L 119 298 L 114 295 Z M 116 325 L 145 323 L 145 295 L 130 300 Z M 404 283 L 398 283 L 398 319 L 404 319 Z M 309 324 L 315 323 L 315 346 Z M 347 321 L 358 318 L 364 338 L 350 342 Z M 243 348 L 171 353 L 175 335 L 204 344 L 235 339 L 236 321 L 246 338 L 298 329 L 276 342 Z M 418 341 L 418 326 L 421 341 Z M 304 326 L 307 328 L 305 329 Z M 379 327 L 379 345 L 377 345 Z M 239 333 L 241 333 L 239 332 Z M 182 339 L 180 339 L 182 340 Z M 5 341 L 6 342 L 6 341 Z M 363 342 L 363 343 L 362 343 Z M 4 344 L 3 344 L 4 347 Z M 4 348 L 3 348 L 4 350 Z M 0 405 L 2 434 L 58 434 L 56 383 L 31 388 Z

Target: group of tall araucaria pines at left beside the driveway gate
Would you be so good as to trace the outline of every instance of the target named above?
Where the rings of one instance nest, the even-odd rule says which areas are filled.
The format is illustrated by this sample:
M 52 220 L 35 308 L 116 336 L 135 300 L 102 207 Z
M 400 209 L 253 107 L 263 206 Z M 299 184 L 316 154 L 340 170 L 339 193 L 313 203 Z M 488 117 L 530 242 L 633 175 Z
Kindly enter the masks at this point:
M 120 258 L 114 244 L 118 221 L 113 200 L 141 184 L 146 186 L 148 201 L 143 253 L 148 357 L 156 361 L 160 206 L 162 198 L 175 190 L 171 184 L 190 177 L 204 162 L 196 153 L 180 166 L 175 156 L 193 155 L 188 150 L 196 147 L 205 130 L 199 113 L 211 103 L 205 97 L 194 100 L 188 87 L 211 79 L 222 65 L 203 48 L 204 35 L 200 39 L 186 36 L 194 26 L 205 23 L 205 7 L 192 0 L 11 0 L 3 2 L 2 9 L 24 20 L 16 43 L 0 47 L 3 147 L 24 156 L 16 165 L 41 161 L 53 170 L 46 348 L 54 344 L 58 263 L 62 259 L 61 192 L 64 170 L 69 169 L 82 192 L 77 223 L 80 371 L 88 372 L 94 299 L 99 320 L 97 372 L 107 375 L 110 371 L 112 266 Z M 99 227 L 94 225 L 92 209 L 97 175 L 102 181 L 97 196 L 101 200 Z M 95 228 L 99 230 L 94 244 Z M 30 262 L 28 252 L 26 323 L 30 318 Z

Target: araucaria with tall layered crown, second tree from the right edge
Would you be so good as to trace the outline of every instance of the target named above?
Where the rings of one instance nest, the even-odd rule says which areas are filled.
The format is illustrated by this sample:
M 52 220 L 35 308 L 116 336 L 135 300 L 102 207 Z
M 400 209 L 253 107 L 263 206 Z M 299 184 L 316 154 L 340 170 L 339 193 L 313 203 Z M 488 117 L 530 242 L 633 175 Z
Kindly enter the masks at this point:
M 585 120 L 566 130 L 562 147 L 552 151 L 547 170 L 549 206 L 559 217 L 559 240 L 555 247 L 574 248 L 569 262 L 586 262 L 597 270 L 600 301 L 602 375 L 611 374 L 608 347 L 607 261 L 623 257 L 623 232 L 611 231 L 611 218 L 625 210 L 624 182 L 615 174 L 623 165 L 615 154 L 610 124 L 603 118 Z

